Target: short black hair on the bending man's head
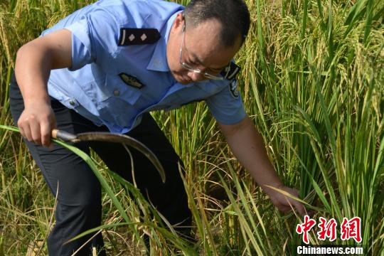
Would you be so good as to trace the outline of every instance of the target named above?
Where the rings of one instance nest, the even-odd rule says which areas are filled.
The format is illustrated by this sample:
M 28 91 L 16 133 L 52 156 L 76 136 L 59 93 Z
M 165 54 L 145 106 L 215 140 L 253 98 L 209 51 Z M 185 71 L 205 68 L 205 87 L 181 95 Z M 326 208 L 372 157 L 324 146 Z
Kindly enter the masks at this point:
M 191 0 L 183 14 L 193 27 L 210 18 L 219 21 L 223 25 L 219 39 L 225 47 L 234 46 L 239 36 L 242 44 L 250 29 L 250 13 L 243 0 Z

